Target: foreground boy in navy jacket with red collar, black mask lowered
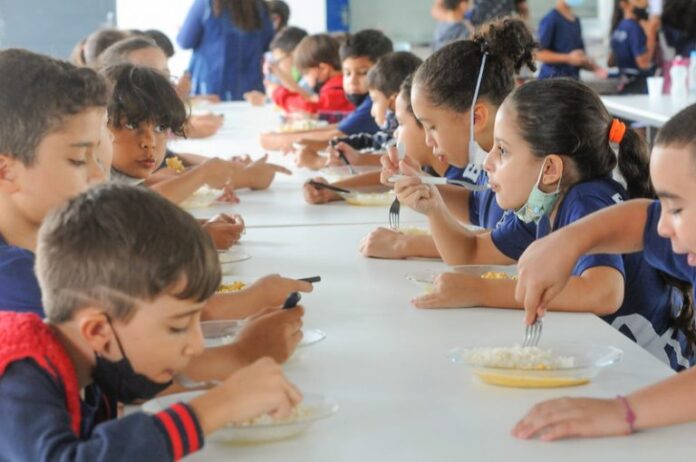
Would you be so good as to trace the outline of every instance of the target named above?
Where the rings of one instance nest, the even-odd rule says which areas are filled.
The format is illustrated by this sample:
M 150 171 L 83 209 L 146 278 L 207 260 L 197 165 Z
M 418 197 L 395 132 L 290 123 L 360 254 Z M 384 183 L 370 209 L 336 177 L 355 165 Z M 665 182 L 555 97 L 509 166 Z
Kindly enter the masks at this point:
M 178 460 L 226 424 L 301 400 L 261 359 L 188 403 L 116 419 L 118 402 L 153 398 L 202 353 L 201 310 L 220 284 L 210 239 L 151 191 L 97 186 L 55 210 L 37 273 L 47 320 L 0 313 L 6 460 Z

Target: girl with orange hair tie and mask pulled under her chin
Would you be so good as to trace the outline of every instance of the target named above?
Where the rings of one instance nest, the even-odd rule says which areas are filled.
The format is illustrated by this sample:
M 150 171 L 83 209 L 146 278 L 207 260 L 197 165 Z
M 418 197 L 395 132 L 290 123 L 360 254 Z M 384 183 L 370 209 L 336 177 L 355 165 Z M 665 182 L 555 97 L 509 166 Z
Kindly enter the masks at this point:
M 468 231 L 443 207 L 437 190 L 417 176 L 398 182 L 396 190 L 402 203 L 428 216 L 447 263 L 510 265 L 553 230 L 628 199 L 652 198 L 648 163 L 645 142 L 612 119 L 593 90 L 575 80 L 550 79 L 522 85 L 498 110 L 495 147 L 484 168 L 507 212 L 494 230 Z M 612 178 L 617 168 L 626 187 Z M 674 326 L 680 293 L 641 253 L 585 255 L 572 274 L 550 309 L 595 313 L 674 369 L 693 363 L 687 333 Z M 445 273 L 433 293 L 414 303 L 521 308 L 514 292 L 515 281 Z

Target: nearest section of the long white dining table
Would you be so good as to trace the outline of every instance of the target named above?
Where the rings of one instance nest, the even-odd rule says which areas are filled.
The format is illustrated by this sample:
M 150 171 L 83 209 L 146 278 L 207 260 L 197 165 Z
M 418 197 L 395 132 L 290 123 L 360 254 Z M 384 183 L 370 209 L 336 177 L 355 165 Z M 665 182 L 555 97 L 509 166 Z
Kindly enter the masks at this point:
M 588 341 L 621 348 L 624 359 L 589 385 L 519 390 L 476 381 L 450 364 L 455 346 L 519 341 L 514 310 L 417 310 L 420 288 L 404 278 L 416 269 L 445 268 L 434 261 L 386 261 L 356 251 L 369 225 L 251 229 L 242 248 L 252 258 L 226 280 L 253 280 L 269 270 L 291 277 L 321 275 L 305 294 L 305 326 L 327 338 L 285 366 L 305 392 L 329 394 L 337 415 L 304 435 L 255 446 L 209 442 L 196 461 L 654 461 L 667 453 L 685 460 L 696 449 L 696 424 L 631 438 L 553 444 L 509 435 L 534 403 L 560 396 L 614 397 L 671 374 L 670 369 L 590 314 L 547 316 L 542 343 Z M 308 234 L 310 232 L 311 234 Z M 667 451 L 667 452 L 666 452 Z

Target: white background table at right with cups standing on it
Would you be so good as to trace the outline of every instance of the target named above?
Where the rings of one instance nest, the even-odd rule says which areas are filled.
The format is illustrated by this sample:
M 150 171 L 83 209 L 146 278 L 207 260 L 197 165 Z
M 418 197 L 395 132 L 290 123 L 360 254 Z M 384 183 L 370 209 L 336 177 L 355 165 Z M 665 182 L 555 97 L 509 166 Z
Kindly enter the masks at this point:
M 685 100 L 674 100 L 670 95 L 651 98 L 648 95 L 610 95 L 602 96 L 602 101 L 609 112 L 637 122 L 644 122 L 652 127 L 662 127 L 680 110 L 696 103 L 696 96 Z

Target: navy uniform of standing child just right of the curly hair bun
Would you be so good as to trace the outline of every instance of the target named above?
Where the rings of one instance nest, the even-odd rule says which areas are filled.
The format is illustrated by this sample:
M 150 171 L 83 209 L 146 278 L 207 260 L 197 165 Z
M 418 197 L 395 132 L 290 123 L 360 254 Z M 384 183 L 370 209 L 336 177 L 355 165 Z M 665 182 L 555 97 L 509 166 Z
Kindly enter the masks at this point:
M 558 10 L 553 9 L 539 23 L 539 47 L 556 53 L 570 53 L 584 50 L 582 28 L 577 17 L 570 21 Z M 539 71 L 539 79 L 550 77 L 580 78 L 580 69 L 565 63 L 544 63 Z

